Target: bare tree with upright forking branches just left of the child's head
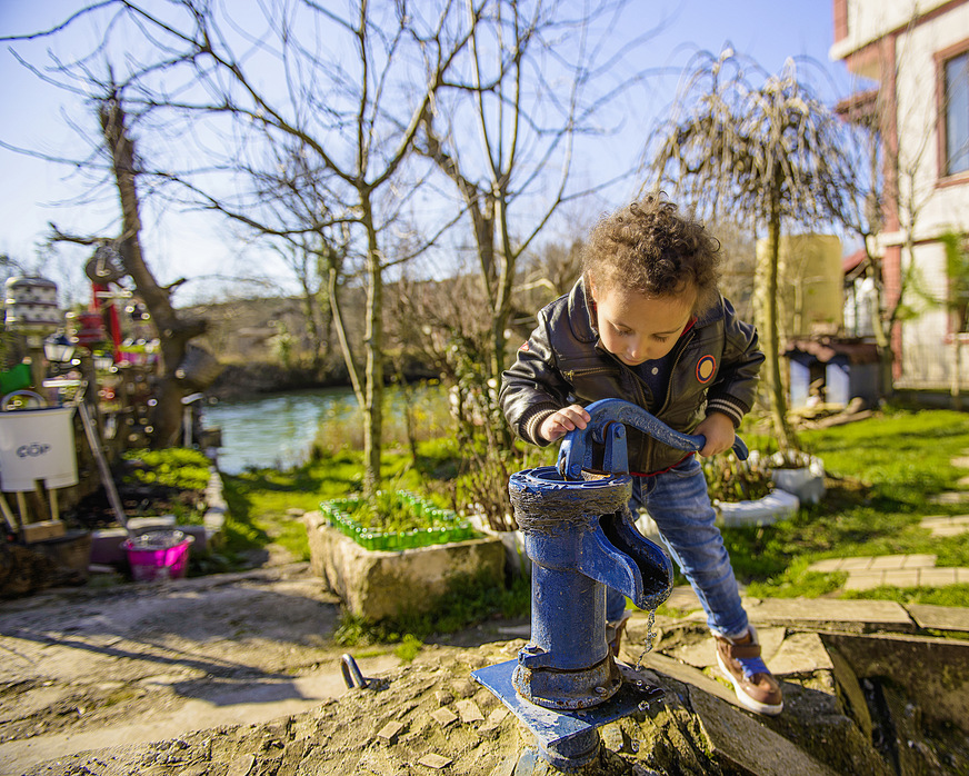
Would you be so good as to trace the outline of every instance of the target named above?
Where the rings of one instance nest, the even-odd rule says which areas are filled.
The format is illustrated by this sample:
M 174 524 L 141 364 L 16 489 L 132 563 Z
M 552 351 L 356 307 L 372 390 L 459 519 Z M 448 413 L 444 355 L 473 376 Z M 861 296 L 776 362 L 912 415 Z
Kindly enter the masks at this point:
M 609 133 L 609 106 L 646 78 L 630 62 L 653 32 L 615 47 L 629 4 L 609 0 L 576 13 L 559 0 L 491 3 L 471 34 L 469 82 L 449 84 L 423 117 L 418 149 L 451 180 L 470 218 L 491 310 L 489 378 L 505 368 L 519 259 L 562 205 L 616 182 L 576 187 L 573 153 L 580 136 Z

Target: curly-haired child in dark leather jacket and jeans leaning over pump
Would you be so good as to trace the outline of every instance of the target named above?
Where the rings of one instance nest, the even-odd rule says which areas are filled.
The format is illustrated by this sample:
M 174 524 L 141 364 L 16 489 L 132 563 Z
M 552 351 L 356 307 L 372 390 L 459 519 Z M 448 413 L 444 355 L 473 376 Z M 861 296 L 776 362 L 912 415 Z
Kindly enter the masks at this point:
M 582 278 L 539 311 L 502 376 L 501 408 L 518 436 L 549 445 L 586 427 L 583 405 L 620 398 L 678 431 L 703 435 L 701 456 L 730 449 L 753 404 L 763 354 L 755 328 L 717 289 L 719 248 L 662 195 L 603 218 L 589 237 Z M 721 670 L 745 706 L 780 714 L 780 686 L 740 603 L 699 461 L 630 427 L 627 447 L 630 509 L 647 508 L 696 590 Z M 607 588 L 613 653 L 625 605 Z

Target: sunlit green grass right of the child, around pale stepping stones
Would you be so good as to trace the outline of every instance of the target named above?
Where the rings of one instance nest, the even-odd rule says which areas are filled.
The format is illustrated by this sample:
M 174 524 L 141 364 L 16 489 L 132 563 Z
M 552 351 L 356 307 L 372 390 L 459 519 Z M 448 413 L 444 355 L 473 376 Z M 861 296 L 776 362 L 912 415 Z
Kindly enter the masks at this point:
M 969 503 L 932 503 L 935 496 L 960 489 L 958 480 L 969 476 L 951 462 L 969 451 L 969 415 L 891 411 L 800 436 L 806 449 L 825 462 L 828 494 L 790 520 L 725 530 L 735 570 L 749 585 L 749 595 L 831 594 L 842 578 L 807 570 L 822 558 L 926 553 L 938 556 L 938 566 L 969 567 L 969 534 L 932 538 L 919 527 L 923 517 L 969 510 Z M 969 585 L 845 595 L 969 606 Z

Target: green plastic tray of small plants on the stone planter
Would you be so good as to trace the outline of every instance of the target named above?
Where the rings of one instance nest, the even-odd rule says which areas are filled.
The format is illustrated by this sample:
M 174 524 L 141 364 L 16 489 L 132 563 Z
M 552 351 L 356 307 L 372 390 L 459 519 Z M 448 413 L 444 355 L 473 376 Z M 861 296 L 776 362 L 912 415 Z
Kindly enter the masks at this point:
M 409 549 L 478 536 L 454 513 L 406 490 L 381 491 L 371 500 L 338 498 L 321 504 L 320 510 L 330 526 L 366 549 Z

